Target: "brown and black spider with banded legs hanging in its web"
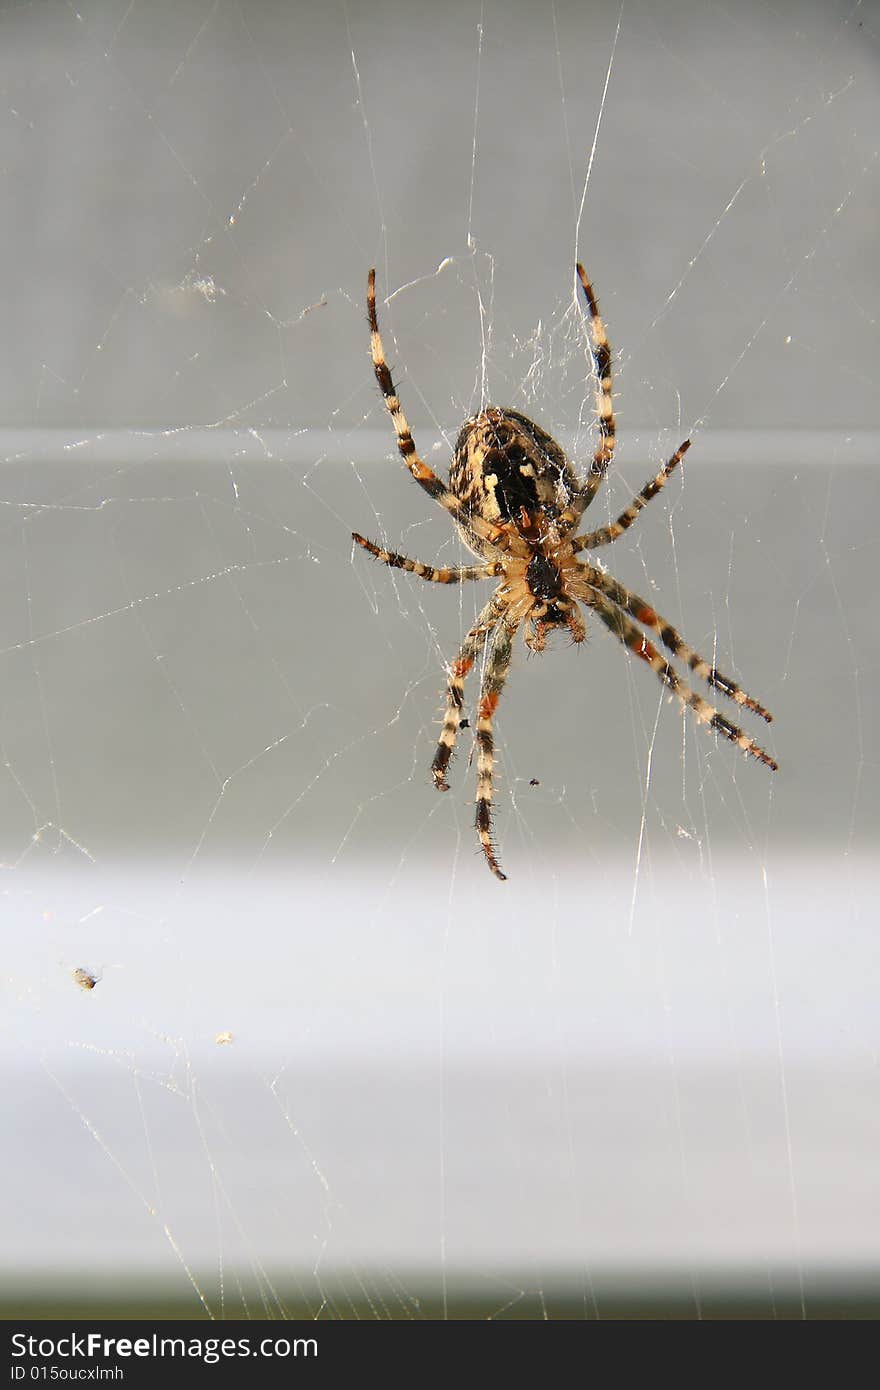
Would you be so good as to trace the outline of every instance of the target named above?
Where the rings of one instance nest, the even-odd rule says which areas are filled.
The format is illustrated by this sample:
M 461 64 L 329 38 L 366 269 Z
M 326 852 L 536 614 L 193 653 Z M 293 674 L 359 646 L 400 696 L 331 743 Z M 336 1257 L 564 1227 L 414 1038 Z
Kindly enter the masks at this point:
M 459 431 L 449 468 L 449 486 L 418 457 L 385 361 L 375 313 L 374 270 L 370 271 L 367 282 L 373 367 L 393 421 L 398 449 L 416 482 L 452 514 L 462 539 L 484 563 L 437 569 L 420 560 L 410 560 L 405 555 L 396 555 L 393 550 L 385 550 L 357 532 L 352 537 L 384 564 L 409 570 L 410 574 L 417 574 L 418 578 L 432 584 L 500 580 L 448 669 L 446 713 L 431 764 L 438 791 L 448 791 L 446 769 L 459 730 L 467 727 L 467 720 L 462 717 L 464 680 L 477 657 L 482 655 L 477 706 L 475 827 L 487 863 L 496 878 L 505 878 L 506 874 L 500 870 L 492 845 L 495 766 L 492 719 L 510 667 L 513 638 L 521 624 L 527 626 L 525 645 L 532 652 L 542 652 L 546 634 L 557 627 L 567 628 L 574 642 L 582 642 L 587 635 L 578 607 L 582 603 L 592 609 L 627 651 L 655 671 L 662 684 L 680 701 L 683 709 L 690 708 L 694 712 L 698 723 L 717 728 L 744 753 L 756 758 L 773 771 L 779 767 L 748 734 L 685 685 L 637 624 L 641 623 L 641 627 L 656 632 L 663 646 L 690 666 L 708 685 L 744 709 L 760 714 L 767 723 L 773 716 L 740 689 L 735 681 L 722 676 L 690 648 L 676 628 L 655 613 L 638 594 L 624 588 L 605 570 L 577 559 L 582 550 L 609 545 L 628 531 L 642 507 L 656 498 L 691 445 L 691 441 L 685 439 L 676 449 L 669 463 L 645 484 L 616 521 L 589 534 L 576 534 L 581 516 L 599 491 L 614 453 L 610 348 L 592 285 L 581 265 L 577 267 L 577 274 L 589 311 L 589 350 L 596 375 L 599 423 L 599 442 L 587 478 L 577 477 L 556 441 L 534 420 L 528 420 L 517 410 L 487 406 L 480 414 L 466 420 Z

